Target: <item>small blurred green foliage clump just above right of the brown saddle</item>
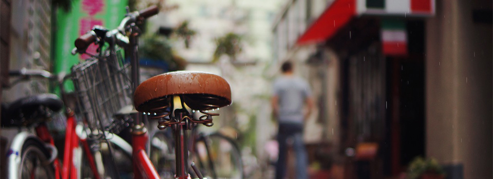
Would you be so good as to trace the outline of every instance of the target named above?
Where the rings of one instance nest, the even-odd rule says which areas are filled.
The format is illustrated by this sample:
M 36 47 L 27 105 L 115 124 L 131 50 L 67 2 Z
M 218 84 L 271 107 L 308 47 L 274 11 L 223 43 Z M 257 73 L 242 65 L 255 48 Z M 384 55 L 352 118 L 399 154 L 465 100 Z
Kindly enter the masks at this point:
M 212 62 L 216 62 L 221 55 L 225 54 L 232 60 L 236 60 L 236 55 L 241 52 L 241 37 L 235 33 L 227 33 L 223 37 L 216 39 L 216 50 Z

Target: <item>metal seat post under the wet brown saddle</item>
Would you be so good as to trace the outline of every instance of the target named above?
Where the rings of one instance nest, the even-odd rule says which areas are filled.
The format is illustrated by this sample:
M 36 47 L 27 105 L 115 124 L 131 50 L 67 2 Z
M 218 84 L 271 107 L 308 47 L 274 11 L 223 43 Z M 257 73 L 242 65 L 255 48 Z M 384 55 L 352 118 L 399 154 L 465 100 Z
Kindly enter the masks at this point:
M 182 119 L 184 113 L 178 113 L 177 119 Z M 181 122 L 172 127 L 175 133 L 175 155 L 176 155 L 176 176 L 175 178 L 185 179 L 188 177 L 188 148 L 187 141 L 187 123 Z

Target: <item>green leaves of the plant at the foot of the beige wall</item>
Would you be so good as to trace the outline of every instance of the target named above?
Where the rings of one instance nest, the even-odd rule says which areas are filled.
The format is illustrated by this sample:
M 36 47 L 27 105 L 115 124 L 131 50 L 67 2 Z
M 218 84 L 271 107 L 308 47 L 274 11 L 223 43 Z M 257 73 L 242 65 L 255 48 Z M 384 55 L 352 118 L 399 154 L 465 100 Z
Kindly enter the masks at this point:
M 407 168 L 407 179 L 419 178 L 423 173 L 445 174 L 442 166 L 434 159 L 423 159 L 416 157 Z

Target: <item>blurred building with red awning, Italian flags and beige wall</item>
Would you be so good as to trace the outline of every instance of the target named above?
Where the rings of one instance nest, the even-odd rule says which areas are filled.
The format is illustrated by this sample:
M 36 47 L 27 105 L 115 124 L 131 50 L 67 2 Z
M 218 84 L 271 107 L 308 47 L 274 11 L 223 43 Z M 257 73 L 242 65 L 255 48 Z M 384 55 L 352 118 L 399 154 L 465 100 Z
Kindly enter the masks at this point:
M 323 11 L 310 16 L 317 2 Z M 328 132 L 316 142 L 330 143 L 344 178 L 399 176 L 416 156 L 437 159 L 447 178 L 492 176 L 491 7 L 288 3 L 273 27 L 275 57 L 304 65 L 300 73 L 318 88 L 316 118 Z M 370 158 L 358 154 L 363 144 L 376 144 Z

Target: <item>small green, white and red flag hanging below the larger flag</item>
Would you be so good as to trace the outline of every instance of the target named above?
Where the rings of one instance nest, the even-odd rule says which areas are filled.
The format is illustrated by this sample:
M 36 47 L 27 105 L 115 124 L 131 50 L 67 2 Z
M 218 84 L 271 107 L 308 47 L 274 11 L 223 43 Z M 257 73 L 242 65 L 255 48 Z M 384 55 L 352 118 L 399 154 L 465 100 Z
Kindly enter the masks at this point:
M 384 55 L 407 55 L 407 31 L 404 19 L 382 19 L 380 36 Z

